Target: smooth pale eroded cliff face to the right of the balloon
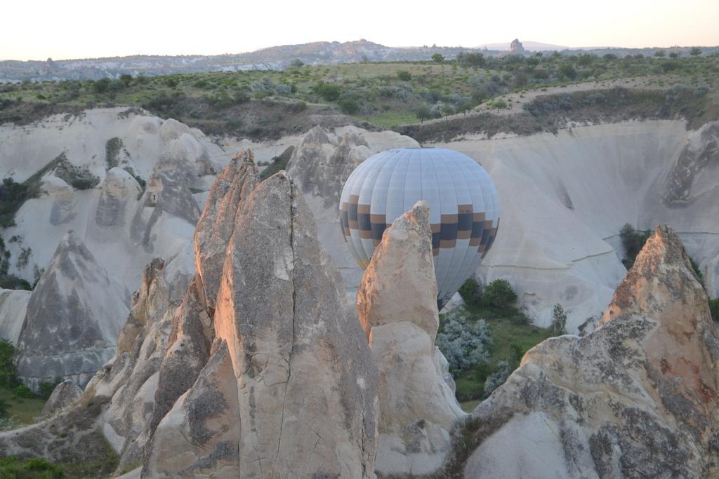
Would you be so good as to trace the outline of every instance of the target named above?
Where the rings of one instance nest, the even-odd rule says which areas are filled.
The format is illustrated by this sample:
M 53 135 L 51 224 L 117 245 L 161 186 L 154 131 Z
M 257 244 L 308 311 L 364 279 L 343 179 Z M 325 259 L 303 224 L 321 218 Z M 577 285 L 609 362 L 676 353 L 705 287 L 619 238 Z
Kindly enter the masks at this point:
M 628 121 L 427 146 L 477 159 L 498 187 L 502 228 L 477 279 L 508 279 L 539 326 L 549 326 L 554 304 L 562 304 L 576 332 L 598 319 L 626 274 L 618 237 L 625 223 L 671 225 L 710 297 L 719 296 L 718 128 Z

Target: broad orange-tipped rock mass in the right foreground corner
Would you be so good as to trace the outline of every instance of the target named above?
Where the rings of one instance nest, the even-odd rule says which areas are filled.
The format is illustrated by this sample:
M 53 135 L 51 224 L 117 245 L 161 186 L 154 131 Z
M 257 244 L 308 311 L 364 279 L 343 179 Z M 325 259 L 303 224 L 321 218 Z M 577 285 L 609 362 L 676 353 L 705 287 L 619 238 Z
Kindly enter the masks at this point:
M 600 327 L 530 350 L 472 416 L 467 478 L 713 477 L 719 333 L 677 235 L 656 228 Z

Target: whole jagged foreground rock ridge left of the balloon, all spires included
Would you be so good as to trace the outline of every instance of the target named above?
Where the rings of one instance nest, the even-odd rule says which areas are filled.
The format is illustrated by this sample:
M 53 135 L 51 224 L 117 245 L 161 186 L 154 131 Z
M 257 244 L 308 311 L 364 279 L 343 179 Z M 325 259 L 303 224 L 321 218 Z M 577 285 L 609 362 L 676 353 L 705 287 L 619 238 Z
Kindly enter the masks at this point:
M 147 266 L 82 404 L 0 444 L 24 454 L 17 441 L 37 437 L 35 450 L 58 457 L 51 425 L 90 402 L 83 427 L 101 427 L 119 468 L 140 462 L 145 477 L 373 477 L 377 369 L 362 327 L 298 187 L 280 172 L 252 188 L 256 177 L 239 155 L 213 188 L 196 236 L 202 274 L 179 302 L 164 262 Z

